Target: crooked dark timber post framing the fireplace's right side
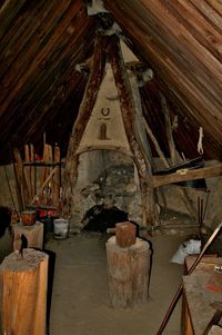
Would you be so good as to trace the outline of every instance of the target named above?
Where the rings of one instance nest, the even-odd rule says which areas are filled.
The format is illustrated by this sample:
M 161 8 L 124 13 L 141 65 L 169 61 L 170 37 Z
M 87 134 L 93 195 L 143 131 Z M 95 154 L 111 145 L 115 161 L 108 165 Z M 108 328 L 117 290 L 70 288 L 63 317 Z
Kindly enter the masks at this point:
M 120 97 L 120 107 L 125 129 L 125 135 L 133 154 L 133 159 L 139 173 L 143 225 L 154 225 L 154 195 L 152 185 L 151 165 L 138 134 L 135 115 L 137 109 L 133 100 L 132 89 L 117 36 L 110 37 L 108 47 L 109 60 L 114 75 L 115 86 Z

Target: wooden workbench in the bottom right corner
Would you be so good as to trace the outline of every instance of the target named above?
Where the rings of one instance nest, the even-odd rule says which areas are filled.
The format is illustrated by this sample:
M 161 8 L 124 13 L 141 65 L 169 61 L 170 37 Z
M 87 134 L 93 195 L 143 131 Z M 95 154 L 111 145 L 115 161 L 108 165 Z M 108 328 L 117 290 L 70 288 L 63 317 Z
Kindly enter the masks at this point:
M 185 270 L 191 267 L 194 259 L 195 256 L 185 258 Z M 191 275 L 183 276 L 181 332 L 183 335 L 202 335 L 215 313 L 210 304 L 222 300 L 221 293 L 205 288 L 214 266 L 221 264 L 222 257 L 203 257 Z

